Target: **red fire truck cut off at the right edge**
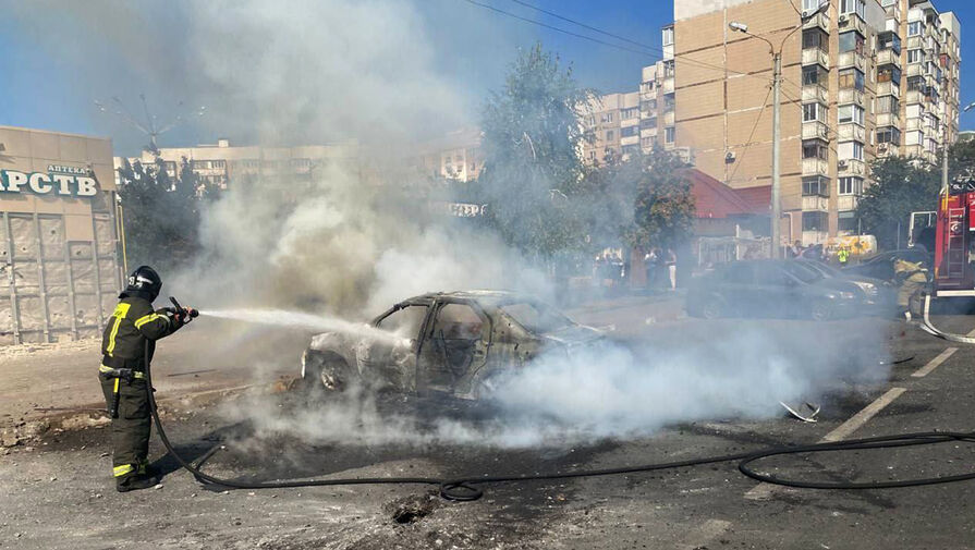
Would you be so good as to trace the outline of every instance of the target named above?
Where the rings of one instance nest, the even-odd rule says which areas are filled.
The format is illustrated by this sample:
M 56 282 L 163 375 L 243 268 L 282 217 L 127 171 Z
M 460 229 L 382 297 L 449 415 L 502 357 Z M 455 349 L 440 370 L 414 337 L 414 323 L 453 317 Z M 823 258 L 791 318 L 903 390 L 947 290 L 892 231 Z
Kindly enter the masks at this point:
M 975 178 L 941 192 L 935 225 L 934 297 L 975 296 Z

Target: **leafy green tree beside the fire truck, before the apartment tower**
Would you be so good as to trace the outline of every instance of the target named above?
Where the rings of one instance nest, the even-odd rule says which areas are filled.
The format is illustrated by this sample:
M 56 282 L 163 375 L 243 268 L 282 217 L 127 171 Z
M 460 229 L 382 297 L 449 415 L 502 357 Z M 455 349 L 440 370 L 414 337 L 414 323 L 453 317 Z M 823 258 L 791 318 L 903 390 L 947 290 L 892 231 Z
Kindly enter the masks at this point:
M 856 207 L 863 232 L 876 235 L 882 248 L 904 246 L 911 212 L 937 209 L 940 170 L 916 158 L 886 157 L 870 171 L 874 182 Z

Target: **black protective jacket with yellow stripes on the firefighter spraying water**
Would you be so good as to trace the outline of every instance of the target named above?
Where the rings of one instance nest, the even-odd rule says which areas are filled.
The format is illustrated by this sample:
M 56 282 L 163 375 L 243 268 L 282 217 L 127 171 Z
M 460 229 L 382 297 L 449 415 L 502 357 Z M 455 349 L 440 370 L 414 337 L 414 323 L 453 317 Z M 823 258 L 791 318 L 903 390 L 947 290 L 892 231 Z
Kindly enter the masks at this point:
M 153 310 L 153 304 L 137 295 L 124 295 L 105 328 L 101 339 L 102 365 L 111 368 L 145 370 L 145 345 L 149 360 L 156 340 L 166 338 L 183 323 L 166 309 Z

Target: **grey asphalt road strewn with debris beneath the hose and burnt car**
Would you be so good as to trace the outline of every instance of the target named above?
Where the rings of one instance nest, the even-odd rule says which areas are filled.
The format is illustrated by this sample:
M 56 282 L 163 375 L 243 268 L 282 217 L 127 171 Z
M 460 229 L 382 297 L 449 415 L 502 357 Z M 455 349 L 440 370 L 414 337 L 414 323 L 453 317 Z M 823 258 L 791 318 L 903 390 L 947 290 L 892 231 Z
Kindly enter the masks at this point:
M 594 313 L 593 315 L 597 315 Z M 294 393 L 241 398 L 230 405 L 169 411 L 181 452 L 228 449 L 209 473 L 245 479 L 313 476 L 436 476 L 572 470 L 674 461 L 766 445 L 812 443 L 907 431 L 972 430 L 975 347 L 934 339 L 885 319 L 814 323 L 792 320 L 648 320 L 653 305 L 598 313 L 624 345 L 687 350 L 722 334 L 758 332 L 790 345 L 811 368 L 816 360 L 876 365 L 882 380 L 839 380 L 821 400 L 816 424 L 784 416 L 715 417 L 671 423 L 638 437 L 573 441 L 559 447 L 500 449 L 434 439 L 380 440 L 350 433 L 308 441 L 295 433 L 328 431 L 343 418 L 303 416 Z M 587 319 L 583 319 L 587 320 Z M 975 317 L 940 317 L 966 333 Z M 730 344 L 729 344 L 730 345 Z M 954 349 L 954 351 L 949 351 Z M 818 350 L 818 355 L 811 350 Z M 188 353 L 188 352 L 187 352 Z M 283 353 L 283 352 L 282 352 Z M 889 366 L 890 358 L 910 360 Z M 733 360 L 727 368 L 738 368 Z M 885 364 L 881 364 L 885 363 Z M 272 425 L 255 435 L 247 413 L 276 411 L 302 430 Z M 418 432 L 438 418 L 485 421 L 490 407 L 382 399 L 383 418 L 411 419 Z M 313 421 L 314 420 L 314 421 Z M 308 425 L 310 424 L 310 425 Z M 277 426 L 277 428 L 276 428 Z M 363 427 L 366 430 L 368 427 Z M 28 451 L 0 456 L 0 548 L 937 548 L 975 546 L 967 504 L 975 482 L 934 487 L 811 491 L 768 489 L 733 464 L 656 474 L 487 486 L 484 499 L 448 503 L 423 486 L 359 486 L 214 491 L 168 459 L 161 488 L 115 493 L 108 477 L 107 431 L 48 433 Z M 158 442 L 153 456 L 161 457 Z M 833 479 L 901 479 L 970 469 L 975 445 L 942 444 L 888 452 L 783 457 L 764 465 L 779 475 Z M 415 502 L 414 502 L 415 501 Z M 393 520 L 413 502 L 414 521 Z

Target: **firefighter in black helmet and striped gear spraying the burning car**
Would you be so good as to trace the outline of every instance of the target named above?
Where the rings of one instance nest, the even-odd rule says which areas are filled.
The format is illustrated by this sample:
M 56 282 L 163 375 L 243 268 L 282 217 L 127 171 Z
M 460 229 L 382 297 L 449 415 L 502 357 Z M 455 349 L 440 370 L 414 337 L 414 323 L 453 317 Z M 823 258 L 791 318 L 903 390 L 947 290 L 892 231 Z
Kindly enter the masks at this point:
M 194 313 L 192 308 L 154 310 L 153 301 L 161 289 L 162 280 L 155 269 L 142 266 L 133 271 L 101 340 L 98 379 L 112 423 L 112 465 L 119 492 L 159 482 L 147 460 L 150 417 L 146 346 L 151 360 L 156 340 L 190 322 Z

